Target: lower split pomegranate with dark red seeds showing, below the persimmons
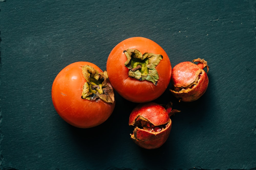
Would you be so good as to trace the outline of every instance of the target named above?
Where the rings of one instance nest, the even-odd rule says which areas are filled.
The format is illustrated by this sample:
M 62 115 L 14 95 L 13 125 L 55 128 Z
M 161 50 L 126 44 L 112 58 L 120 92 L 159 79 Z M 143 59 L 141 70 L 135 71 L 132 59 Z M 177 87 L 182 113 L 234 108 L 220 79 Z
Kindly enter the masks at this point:
M 131 139 L 145 149 L 156 149 L 167 140 L 172 127 L 170 116 L 179 110 L 172 110 L 172 103 L 162 105 L 149 102 L 135 107 L 129 117 L 134 127 Z

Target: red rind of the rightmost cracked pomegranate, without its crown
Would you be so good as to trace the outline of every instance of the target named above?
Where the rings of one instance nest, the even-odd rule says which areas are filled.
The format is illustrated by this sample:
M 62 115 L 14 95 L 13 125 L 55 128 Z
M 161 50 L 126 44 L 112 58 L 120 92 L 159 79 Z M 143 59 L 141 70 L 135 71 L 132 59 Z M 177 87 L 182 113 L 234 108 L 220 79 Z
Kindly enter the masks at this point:
M 186 87 L 195 81 L 201 71 L 201 78 L 198 80 L 197 86 L 193 87 L 187 93 L 170 90 L 171 93 L 184 102 L 191 102 L 199 99 L 205 93 L 209 83 L 206 72 L 199 66 L 189 61 L 181 62 L 173 67 L 171 79 L 173 86 Z

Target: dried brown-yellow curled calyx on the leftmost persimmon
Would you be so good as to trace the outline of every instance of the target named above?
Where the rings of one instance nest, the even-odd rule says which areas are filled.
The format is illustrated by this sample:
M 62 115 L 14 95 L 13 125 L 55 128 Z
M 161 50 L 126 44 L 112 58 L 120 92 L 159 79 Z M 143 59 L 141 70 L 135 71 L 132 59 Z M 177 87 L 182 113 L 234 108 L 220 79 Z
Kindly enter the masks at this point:
M 114 103 L 114 91 L 108 85 L 108 74 L 106 71 L 98 72 L 93 67 L 82 66 L 82 74 L 86 80 L 83 85 L 82 99 L 102 99 L 105 102 Z

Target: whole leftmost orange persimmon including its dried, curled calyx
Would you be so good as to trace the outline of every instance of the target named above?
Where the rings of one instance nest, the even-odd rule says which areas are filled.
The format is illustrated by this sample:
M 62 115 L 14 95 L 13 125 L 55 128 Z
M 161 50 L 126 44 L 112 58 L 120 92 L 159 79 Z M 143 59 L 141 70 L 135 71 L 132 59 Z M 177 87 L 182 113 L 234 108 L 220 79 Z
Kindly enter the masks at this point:
M 113 87 L 106 72 L 85 61 L 69 64 L 58 73 L 51 96 L 59 116 L 78 128 L 102 124 L 115 107 Z

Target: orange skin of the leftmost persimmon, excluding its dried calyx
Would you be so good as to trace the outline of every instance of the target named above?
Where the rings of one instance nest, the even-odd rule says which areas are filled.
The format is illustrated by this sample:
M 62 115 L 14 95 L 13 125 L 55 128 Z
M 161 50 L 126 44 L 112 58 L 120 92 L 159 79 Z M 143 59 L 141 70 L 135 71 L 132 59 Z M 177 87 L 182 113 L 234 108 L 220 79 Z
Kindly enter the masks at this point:
M 62 69 L 52 84 L 52 102 L 60 117 L 72 126 L 90 128 L 105 122 L 112 114 L 115 102 L 107 103 L 101 99 L 93 101 L 82 99 L 82 89 L 86 82 L 81 67 L 92 66 L 98 72 L 102 70 L 93 63 L 79 61 Z M 109 83 L 110 87 L 111 84 Z

